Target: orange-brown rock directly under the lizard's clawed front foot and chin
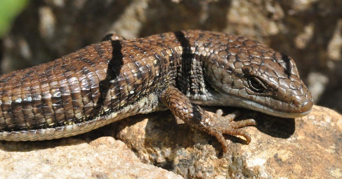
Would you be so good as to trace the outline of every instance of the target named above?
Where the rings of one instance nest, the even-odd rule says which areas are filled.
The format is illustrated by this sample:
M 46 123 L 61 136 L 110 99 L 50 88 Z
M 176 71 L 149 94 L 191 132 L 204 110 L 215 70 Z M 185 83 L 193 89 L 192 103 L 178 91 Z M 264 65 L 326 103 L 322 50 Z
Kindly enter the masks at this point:
M 252 117 L 258 126 L 246 128 L 252 135 L 248 145 L 227 136 L 230 150 L 225 154 L 214 137 L 175 120 L 170 112 L 121 120 L 117 138 L 142 162 L 185 178 L 342 177 L 341 114 L 320 106 L 295 119 L 241 111 L 245 115 L 239 119 Z

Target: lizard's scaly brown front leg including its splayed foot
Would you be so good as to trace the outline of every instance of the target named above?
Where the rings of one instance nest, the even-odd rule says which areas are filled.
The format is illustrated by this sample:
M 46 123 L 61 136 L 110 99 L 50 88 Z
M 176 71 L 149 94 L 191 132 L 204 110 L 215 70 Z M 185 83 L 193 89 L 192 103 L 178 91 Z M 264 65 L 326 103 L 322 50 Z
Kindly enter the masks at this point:
M 240 128 L 250 125 L 255 126 L 254 119 L 235 122 L 233 119 L 237 116 L 237 112 L 222 116 L 222 110 L 217 110 L 216 114 L 211 116 L 201 107 L 191 102 L 179 89 L 172 86 L 163 91 L 160 100 L 174 115 L 188 125 L 215 136 L 221 143 L 223 152 L 228 150 L 228 144 L 223 134 L 243 136 L 246 138 L 247 143 L 251 141 L 250 134 Z

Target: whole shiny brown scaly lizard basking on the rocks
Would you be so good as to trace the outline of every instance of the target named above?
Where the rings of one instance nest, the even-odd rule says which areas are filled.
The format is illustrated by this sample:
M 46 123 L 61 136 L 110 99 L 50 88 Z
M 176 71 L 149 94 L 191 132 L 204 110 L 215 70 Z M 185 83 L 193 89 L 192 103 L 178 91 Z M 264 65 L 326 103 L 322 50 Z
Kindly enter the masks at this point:
M 52 62 L 0 77 L 0 140 L 68 137 L 116 120 L 170 109 L 215 136 L 251 136 L 236 113 L 211 116 L 198 105 L 238 106 L 294 118 L 313 101 L 294 61 L 242 36 L 187 30 L 123 39 L 107 36 Z

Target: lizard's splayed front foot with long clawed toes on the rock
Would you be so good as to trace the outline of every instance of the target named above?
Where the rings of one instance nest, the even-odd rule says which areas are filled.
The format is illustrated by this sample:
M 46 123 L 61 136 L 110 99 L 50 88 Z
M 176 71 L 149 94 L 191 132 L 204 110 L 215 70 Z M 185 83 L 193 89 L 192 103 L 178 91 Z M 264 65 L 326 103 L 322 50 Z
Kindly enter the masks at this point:
M 242 136 L 246 138 L 247 144 L 251 142 L 251 135 L 243 129 L 240 129 L 245 126 L 256 126 L 257 123 L 254 119 L 246 119 L 240 121 L 233 121 L 240 113 L 239 111 L 234 111 L 232 114 L 228 114 L 226 116 L 222 116 L 223 111 L 217 110 L 216 114 L 212 116 L 212 121 L 210 123 L 210 127 L 208 128 L 209 134 L 215 136 L 216 139 L 222 145 L 223 152 L 226 153 L 228 151 L 228 144 L 223 137 L 223 134 L 229 134 L 234 136 Z

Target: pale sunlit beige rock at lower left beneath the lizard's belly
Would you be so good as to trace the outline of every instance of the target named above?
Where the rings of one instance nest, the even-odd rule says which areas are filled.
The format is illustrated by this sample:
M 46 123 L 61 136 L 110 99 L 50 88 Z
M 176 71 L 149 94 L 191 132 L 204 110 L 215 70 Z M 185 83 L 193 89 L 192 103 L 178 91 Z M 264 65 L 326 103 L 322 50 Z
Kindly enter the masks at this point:
M 1 178 L 182 178 L 143 164 L 112 137 L 1 142 Z

